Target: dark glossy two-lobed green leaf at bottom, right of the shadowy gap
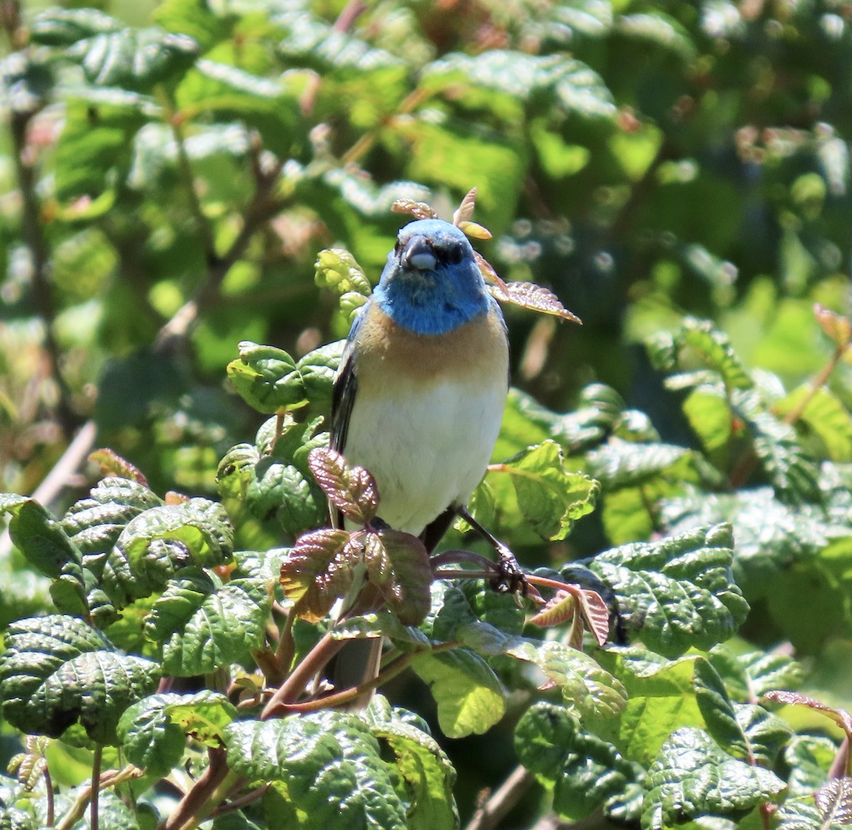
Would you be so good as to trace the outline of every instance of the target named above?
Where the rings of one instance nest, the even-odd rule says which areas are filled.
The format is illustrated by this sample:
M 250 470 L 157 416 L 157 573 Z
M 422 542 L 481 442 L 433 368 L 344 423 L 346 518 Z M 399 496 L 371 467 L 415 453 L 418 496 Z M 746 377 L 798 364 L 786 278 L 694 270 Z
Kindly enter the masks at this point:
M 599 807 L 606 814 L 610 802 L 644 777 L 638 764 L 550 703 L 536 703 L 524 712 L 515 728 L 515 752 L 521 764 L 552 788 L 553 809 L 570 821 L 581 821 Z

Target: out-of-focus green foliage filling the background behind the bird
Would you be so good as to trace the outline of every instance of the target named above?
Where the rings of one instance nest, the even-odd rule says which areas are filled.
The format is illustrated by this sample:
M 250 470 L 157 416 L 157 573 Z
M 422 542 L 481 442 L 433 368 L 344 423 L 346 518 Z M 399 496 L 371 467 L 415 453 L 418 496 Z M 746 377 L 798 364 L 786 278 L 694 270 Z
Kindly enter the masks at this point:
M 259 424 L 226 381 L 236 344 L 343 337 L 316 255 L 343 246 L 377 280 L 402 197 L 448 218 L 476 186 L 498 273 L 583 319 L 507 312 L 513 383 L 550 410 L 606 383 L 706 450 L 643 345 L 685 315 L 786 389 L 832 357 L 813 304 L 849 312 L 850 3 L 81 5 L 0 0 L 3 490 L 35 490 L 92 423 L 156 491 L 216 493 Z M 829 383 L 846 412 L 848 360 Z M 805 437 L 852 461 L 852 440 Z M 604 525 L 580 522 L 569 554 L 642 537 Z M 837 691 L 831 634 L 803 644 Z M 772 644 L 777 615 L 750 635 Z

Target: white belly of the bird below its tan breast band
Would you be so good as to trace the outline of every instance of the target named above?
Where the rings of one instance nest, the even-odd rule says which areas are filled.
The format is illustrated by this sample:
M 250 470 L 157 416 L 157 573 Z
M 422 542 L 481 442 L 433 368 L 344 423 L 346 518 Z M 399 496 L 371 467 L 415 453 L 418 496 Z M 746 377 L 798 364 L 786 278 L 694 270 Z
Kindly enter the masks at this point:
M 505 401 L 504 377 L 491 387 L 453 378 L 358 395 L 344 454 L 375 476 L 378 516 L 419 535 L 465 504 L 485 474 Z

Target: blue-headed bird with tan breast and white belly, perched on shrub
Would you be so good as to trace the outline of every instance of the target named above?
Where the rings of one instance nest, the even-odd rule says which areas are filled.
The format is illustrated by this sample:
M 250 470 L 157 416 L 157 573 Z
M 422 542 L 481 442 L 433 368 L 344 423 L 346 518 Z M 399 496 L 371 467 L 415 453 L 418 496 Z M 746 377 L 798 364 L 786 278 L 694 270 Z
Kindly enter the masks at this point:
M 331 448 L 371 472 L 384 524 L 431 553 L 469 518 L 508 391 L 506 323 L 469 239 L 440 219 L 409 222 L 349 331 L 331 404 Z M 381 640 L 349 643 L 335 688 L 375 677 L 380 656 Z

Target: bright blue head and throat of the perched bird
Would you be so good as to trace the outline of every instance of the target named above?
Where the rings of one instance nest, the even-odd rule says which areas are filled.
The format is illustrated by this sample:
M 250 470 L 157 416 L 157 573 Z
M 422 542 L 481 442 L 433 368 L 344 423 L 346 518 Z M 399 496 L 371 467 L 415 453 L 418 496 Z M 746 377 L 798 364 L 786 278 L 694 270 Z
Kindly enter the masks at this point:
M 486 291 L 474 250 L 458 228 L 420 219 L 400 230 L 373 300 L 417 334 L 444 334 L 486 314 Z

